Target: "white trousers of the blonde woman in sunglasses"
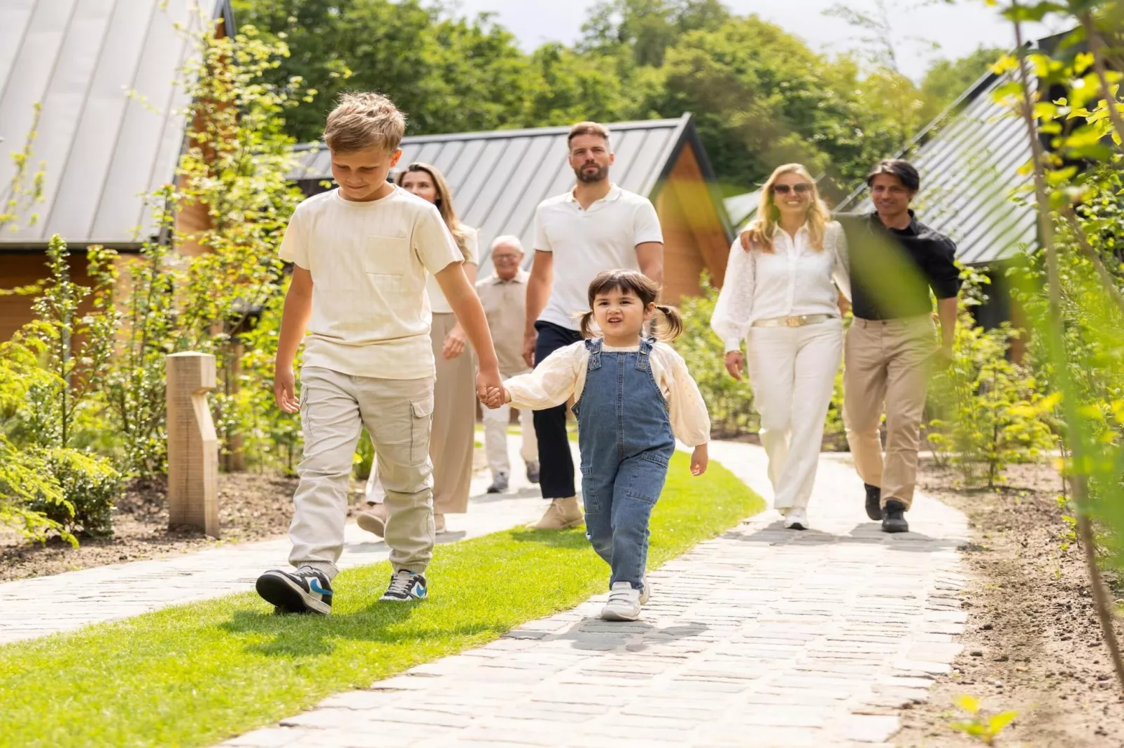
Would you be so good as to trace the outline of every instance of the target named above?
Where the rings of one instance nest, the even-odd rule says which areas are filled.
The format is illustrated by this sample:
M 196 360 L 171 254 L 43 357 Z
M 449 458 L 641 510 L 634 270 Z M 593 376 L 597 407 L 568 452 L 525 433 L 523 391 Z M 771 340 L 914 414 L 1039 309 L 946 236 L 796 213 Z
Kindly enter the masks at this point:
M 843 355 L 843 322 L 751 327 L 745 341 L 773 505 L 804 509 L 816 480 L 827 405 Z

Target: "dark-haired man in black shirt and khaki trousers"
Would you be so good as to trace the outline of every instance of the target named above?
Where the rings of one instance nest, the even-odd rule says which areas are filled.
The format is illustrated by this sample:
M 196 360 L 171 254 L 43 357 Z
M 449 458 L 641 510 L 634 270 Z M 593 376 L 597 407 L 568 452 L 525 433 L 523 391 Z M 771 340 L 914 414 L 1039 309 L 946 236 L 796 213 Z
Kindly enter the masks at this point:
M 887 159 L 867 177 L 874 212 L 840 216 L 847 239 L 854 322 L 844 345 L 843 420 L 867 516 L 886 532 L 909 529 L 904 513 L 917 481 L 917 445 L 934 358 L 949 361 L 960 272 L 952 239 L 914 217 L 917 170 Z M 941 343 L 933 328 L 937 299 Z M 886 410 L 886 457 L 879 438 Z

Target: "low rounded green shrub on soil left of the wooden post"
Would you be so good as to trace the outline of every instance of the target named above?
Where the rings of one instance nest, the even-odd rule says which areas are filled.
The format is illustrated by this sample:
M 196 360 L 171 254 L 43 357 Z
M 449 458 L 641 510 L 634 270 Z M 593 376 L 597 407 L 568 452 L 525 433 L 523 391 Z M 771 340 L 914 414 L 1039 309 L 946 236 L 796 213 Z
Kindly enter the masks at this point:
M 62 490 L 62 501 L 53 492 L 40 491 L 28 510 L 69 532 L 90 537 L 110 535 L 114 501 L 123 489 L 121 474 L 105 457 L 76 449 L 53 448 L 39 454 L 43 466 Z

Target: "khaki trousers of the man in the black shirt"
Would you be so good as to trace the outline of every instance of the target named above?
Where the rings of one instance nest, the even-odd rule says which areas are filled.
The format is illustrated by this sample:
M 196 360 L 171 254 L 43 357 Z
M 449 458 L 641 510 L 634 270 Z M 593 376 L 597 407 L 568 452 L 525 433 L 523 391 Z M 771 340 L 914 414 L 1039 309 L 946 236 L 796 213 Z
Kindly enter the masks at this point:
M 843 421 L 855 469 L 890 499 L 913 502 L 917 443 L 928 373 L 936 350 L 930 316 L 892 320 L 855 318 L 843 348 Z M 878 427 L 886 409 L 886 459 Z

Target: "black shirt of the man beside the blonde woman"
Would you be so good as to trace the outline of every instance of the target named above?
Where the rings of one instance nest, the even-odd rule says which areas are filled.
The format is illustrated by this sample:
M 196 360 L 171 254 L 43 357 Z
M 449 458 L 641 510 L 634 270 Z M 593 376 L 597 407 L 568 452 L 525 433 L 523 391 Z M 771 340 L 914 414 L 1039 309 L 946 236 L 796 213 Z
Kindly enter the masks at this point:
M 960 292 L 957 245 L 914 217 L 909 226 L 888 228 L 877 212 L 836 216 L 846 234 L 851 307 L 861 319 L 900 319 L 933 313 L 937 299 Z

